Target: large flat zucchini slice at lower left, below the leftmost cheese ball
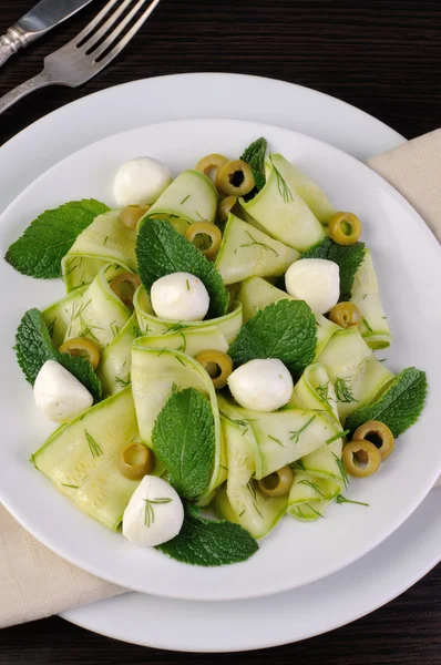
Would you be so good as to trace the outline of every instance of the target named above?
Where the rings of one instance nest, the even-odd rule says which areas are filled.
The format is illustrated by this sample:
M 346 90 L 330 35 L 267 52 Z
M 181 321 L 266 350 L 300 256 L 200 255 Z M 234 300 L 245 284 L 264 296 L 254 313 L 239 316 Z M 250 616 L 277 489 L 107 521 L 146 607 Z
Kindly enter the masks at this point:
M 115 530 L 139 484 L 119 471 L 117 456 L 136 437 L 129 387 L 55 430 L 32 461 L 82 511 Z

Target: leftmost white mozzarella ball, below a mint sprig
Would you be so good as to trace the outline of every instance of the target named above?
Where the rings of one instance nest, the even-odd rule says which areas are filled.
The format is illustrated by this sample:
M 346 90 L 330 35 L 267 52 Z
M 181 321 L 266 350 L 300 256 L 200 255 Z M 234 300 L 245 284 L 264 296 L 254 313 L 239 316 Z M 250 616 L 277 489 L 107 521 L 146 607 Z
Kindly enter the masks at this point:
M 49 420 L 69 422 L 93 405 L 86 388 L 55 360 L 47 360 L 33 385 L 37 408 Z

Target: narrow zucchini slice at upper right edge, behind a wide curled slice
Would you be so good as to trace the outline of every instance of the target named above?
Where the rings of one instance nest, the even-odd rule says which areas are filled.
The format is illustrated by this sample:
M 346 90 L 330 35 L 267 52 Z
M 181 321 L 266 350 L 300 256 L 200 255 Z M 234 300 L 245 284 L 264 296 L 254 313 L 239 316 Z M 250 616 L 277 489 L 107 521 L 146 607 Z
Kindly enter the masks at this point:
M 288 183 L 291 192 L 305 201 L 308 208 L 320 224 L 328 225 L 329 219 L 337 213 L 325 192 L 314 180 L 301 173 L 291 162 L 280 154 L 271 154 L 271 161 L 283 178 Z

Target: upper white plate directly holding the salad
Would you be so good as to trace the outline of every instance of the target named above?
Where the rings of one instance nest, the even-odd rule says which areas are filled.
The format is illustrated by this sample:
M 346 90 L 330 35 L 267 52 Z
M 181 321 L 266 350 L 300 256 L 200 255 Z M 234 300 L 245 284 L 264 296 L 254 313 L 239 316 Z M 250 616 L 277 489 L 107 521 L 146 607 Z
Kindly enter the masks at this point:
M 57 299 L 62 295 L 62 285 L 22 277 L 3 262 L 0 277 L 10 297 L 3 299 L 8 316 L 0 334 L 0 358 L 8 376 L 2 386 L 4 412 L 0 423 L 4 442 L 1 499 L 52 550 L 89 572 L 136 591 L 175 598 L 234 600 L 319 580 L 359 559 L 394 531 L 422 501 L 441 468 L 441 450 L 433 436 L 441 398 L 441 308 L 433 307 L 441 284 L 439 245 L 394 190 L 327 144 L 278 127 L 226 120 L 171 122 L 119 134 L 64 160 L 23 192 L 2 216 L 1 250 L 4 253 L 29 219 L 44 208 L 89 196 L 112 203 L 113 175 L 117 165 L 131 156 L 152 154 L 177 173 L 216 150 L 238 154 L 259 135 L 266 135 L 273 150 L 283 151 L 312 175 L 338 208 L 351 209 L 363 219 L 365 239 L 377 260 L 386 310 L 396 330 L 390 366 L 396 371 L 409 365 L 425 369 L 430 397 L 421 421 L 400 440 L 399 454 L 369 482 L 351 487 L 353 499 L 370 503 L 361 519 L 358 507 L 334 505 L 327 519 L 315 524 L 284 520 L 244 564 L 212 570 L 185 566 L 156 551 L 134 548 L 121 535 L 99 526 L 68 499 L 57 495 L 25 461 L 48 427 L 34 411 L 31 391 L 23 390 L 10 344 L 22 313 Z M 20 401 L 19 395 L 23 396 Z M 417 457 L 414 450 L 421 450 L 421 441 L 424 454 Z

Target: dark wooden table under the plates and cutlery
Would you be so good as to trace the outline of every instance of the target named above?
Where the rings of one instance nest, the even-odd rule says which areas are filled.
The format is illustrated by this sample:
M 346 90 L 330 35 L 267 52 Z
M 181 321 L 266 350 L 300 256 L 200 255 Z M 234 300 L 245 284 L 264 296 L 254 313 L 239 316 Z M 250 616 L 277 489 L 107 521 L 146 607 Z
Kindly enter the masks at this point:
M 0 72 L 0 95 L 34 75 L 96 11 L 99 0 Z M 33 4 L 0 0 L 3 32 Z M 315 88 L 363 109 L 407 137 L 441 124 L 440 0 L 162 0 L 147 28 L 79 90 L 50 88 L 0 119 L 0 145 L 50 111 L 116 83 L 177 72 L 259 74 Z M 0 175 L 1 177 L 1 175 Z M 1 587 L 0 587 L 1 593 Z M 239 626 L 232 626 L 239 630 Z M 355 624 L 299 644 L 211 663 L 441 664 L 441 565 Z M 60 618 L 0 634 L 0 663 L 206 663 L 207 657 L 117 643 Z

